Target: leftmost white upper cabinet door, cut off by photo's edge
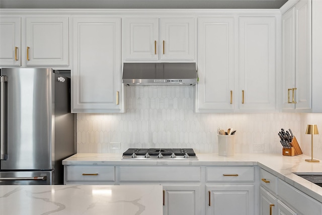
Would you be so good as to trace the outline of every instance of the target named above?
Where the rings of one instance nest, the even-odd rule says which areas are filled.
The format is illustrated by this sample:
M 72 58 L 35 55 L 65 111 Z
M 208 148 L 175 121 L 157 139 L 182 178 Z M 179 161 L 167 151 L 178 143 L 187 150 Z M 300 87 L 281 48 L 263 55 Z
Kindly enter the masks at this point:
M 21 18 L 0 17 L 0 66 L 21 65 Z

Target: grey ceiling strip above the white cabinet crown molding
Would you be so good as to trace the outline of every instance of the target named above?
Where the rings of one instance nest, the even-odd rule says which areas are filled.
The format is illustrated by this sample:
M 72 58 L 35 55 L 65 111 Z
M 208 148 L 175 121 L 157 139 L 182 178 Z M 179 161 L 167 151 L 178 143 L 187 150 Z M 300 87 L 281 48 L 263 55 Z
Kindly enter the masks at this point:
M 278 9 L 287 0 L 0 0 L 2 9 Z

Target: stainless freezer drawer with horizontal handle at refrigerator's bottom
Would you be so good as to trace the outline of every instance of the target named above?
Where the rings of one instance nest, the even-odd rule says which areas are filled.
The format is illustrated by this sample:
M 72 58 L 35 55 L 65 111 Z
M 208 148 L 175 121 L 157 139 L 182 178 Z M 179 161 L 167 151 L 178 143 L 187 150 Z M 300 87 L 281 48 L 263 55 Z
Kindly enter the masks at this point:
M 0 172 L 0 185 L 50 185 L 54 171 Z

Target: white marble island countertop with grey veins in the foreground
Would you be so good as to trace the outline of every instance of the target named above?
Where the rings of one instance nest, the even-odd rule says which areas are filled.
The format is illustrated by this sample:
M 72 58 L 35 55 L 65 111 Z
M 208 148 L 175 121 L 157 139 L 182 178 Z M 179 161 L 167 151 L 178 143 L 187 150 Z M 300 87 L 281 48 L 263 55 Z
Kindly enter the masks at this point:
M 2 185 L 0 214 L 162 215 L 160 185 Z

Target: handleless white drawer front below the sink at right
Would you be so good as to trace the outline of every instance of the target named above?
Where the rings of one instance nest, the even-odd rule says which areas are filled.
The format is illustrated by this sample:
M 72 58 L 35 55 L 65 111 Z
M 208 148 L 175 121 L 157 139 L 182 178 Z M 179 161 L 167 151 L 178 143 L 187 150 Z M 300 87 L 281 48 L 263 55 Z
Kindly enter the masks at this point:
M 278 196 L 302 214 L 321 215 L 322 204 L 302 193 L 281 179 L 278 179 Z

